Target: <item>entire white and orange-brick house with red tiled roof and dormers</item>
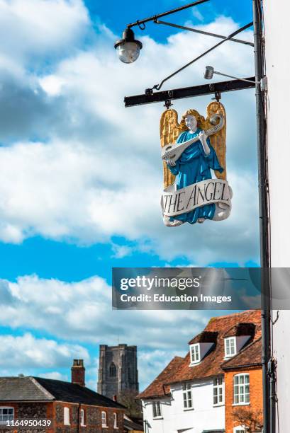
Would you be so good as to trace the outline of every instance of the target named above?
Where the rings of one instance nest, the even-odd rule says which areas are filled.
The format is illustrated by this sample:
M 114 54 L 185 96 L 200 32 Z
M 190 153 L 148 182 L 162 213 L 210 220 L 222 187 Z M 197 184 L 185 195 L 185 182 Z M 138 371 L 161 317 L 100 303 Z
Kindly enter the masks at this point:
M 138 398 L 146 433 L 262 432 L 260 311 L 212 318 Z

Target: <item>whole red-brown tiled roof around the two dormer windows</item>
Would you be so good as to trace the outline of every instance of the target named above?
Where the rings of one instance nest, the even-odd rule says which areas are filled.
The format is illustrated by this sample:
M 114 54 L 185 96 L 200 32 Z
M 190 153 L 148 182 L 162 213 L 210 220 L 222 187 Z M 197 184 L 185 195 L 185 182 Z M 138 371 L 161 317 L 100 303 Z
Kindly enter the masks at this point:
M 175 357 L 172 362 L 157 376 L 157 378 L 148 386 L 143 393 L 139 394 L 139 398 L 152 398 L 164 396 L 169 393 L 169 384 L 182 381 L 191 381 L 194 379 L 204 379 L 211 376 L 224 374 L 222 365 L 225 364 L 224 356 L 224 337 L 228 331 L 238 323 L 253 323 L 255 325 L 255 335 L 252 336 L 250 342 L 256 342 L 261 337 L 261 312 L 260 310 L 243 311 L 242 313 L 229 314 L 228 316 L 213 317 L 206 325 L 203 332 L 218 333 L 216 345 L 206 355 L 199 364 L 189 366 L 190 354 L 186 357 Z M 201 333 L 202 334 L 202 333 Z M 200 335 L 198 337 L 200 337 Z M 195 338 L 191 340 L 194 342 Z M 255 346 L 255 348 L 258 345 Z M 256 352 L 255 352 L 256 353 Z M 240 352 L 242 354 L 242 352 Z M 256 353 L 257 355 L 257 353 Z M 247 355 L 241 357 L 241 362 L 244 362 Z M 235 357 L 238 359 L 238 356 Z M 178 359 L 178 361 L 177 361 Z M 257 356 L 255 357 L 257 359 Z M 238 360 L 239 362 L 239 360 Z M 165 389 L 164 389 L 165 386 Z

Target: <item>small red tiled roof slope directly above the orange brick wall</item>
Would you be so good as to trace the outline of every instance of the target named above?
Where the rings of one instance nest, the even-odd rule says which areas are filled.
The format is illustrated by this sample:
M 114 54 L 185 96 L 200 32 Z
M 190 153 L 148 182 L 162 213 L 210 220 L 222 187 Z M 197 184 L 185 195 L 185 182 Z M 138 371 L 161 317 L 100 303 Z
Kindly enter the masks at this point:
M 235 357 L 222 364 L 223 370 L 238 369 L 245 366 L 262 366 L 262 337 L 247 345 Z

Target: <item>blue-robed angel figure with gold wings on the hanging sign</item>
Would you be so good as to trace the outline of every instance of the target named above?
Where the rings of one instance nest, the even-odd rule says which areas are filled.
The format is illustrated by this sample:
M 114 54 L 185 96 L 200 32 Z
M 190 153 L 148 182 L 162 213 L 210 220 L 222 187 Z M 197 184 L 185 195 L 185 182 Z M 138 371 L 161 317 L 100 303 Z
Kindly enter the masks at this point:
M 172 113 L 170 114 L 168 111 Z M 213 134 L 212 129 L 214 129 L 208 129 L 208 126 L 212 127 L 210 116 L 217 112 L 223 119 L 223 126 L 218 129 L 219 133 L 216 134 L 219 134 L 219 137 L 211 139 L 216 144 L 216 150 L 220 154 L 221 160 L 208 137 L 209 134 Z M 176 140 L 176 144 L 190 143 L 192 140 L 192 144 L 186 146 L 179 158 L 174 159 L 170 156 L 164 158 L 164 186 L 166 187 L 164 191 L 173 188 L 178 191 L 203 180 L 212 179 L 211 170 L 215 171 L 218 178 L 225 179 L 225 111 L 223 105 L 220 103 L 208 105 L 208 118 L 206 120 L 196 110 L 187 110 L 182 116 L 180 124 L 177 122 L 177 112 L 174 110 L 167 110 L 164 115 L 160 125 L 163 146 L 172 142 L 172 139 Z M 223 129 L 222 133 L 221 129 Z M 175 137 L 172 137 L 172 134 L 175 134 Z M 170 135 L 171 137 L 169 137 Z M 163 219 L 166 226 L 179 226 L 185 222 L 195 224 L 196 222 L 203 223 L 206 219 L 225 219 L 229 212 L 229 207 L 222 203 L 210 203 L 196 207 L 190 212 L 174 215 L 174 217 L 163 215 Z

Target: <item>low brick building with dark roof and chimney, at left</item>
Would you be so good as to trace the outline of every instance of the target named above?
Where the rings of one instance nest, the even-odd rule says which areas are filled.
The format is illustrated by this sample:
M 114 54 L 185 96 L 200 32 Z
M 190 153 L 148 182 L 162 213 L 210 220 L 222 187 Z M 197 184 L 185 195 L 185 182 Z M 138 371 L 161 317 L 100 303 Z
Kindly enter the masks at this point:
M 0 432 L 7 432 L 1 429 L 7 420 L 35 418 L 52 420 L 46 433 L 125 432 L 125 408 L 86 388 L 84 371 L 82 359 L 74 359 L 71 383 L 33 376 L 0 377 Z M 45 433 L 45 429 L 37 431 Z

